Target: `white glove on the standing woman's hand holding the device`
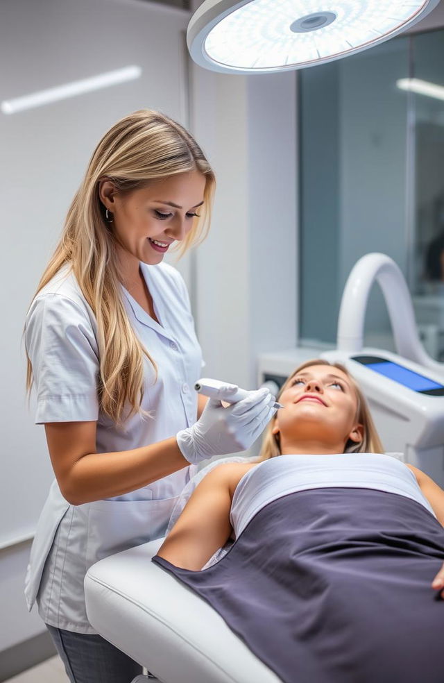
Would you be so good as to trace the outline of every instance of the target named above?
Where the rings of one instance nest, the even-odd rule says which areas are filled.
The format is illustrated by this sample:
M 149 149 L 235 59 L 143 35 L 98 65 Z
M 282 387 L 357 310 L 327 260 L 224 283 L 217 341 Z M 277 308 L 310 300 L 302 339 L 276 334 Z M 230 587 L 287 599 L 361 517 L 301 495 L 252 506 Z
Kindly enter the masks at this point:
M 236 385 L 227 385 L 226 396 L 237 389 Z M 200 419 L 176 435 L 180 452 L 188 462 L 199 462 L 213 455 L 246 450 L 275 414 L 275 400 L 266 387 L 248 391 L 246 398 L 226 408 L 219 398 L 209 398 Z

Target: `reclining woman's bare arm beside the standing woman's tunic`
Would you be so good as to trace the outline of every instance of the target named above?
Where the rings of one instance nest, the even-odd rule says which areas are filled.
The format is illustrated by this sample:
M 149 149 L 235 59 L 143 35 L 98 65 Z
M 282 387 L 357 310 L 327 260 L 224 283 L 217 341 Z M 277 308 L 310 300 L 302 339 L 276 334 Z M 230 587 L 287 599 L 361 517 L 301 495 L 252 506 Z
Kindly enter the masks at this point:
M 157 555 L 198 571 L 230 538 L 230 508 L 245 464 L 225 463 L 198 484 Z

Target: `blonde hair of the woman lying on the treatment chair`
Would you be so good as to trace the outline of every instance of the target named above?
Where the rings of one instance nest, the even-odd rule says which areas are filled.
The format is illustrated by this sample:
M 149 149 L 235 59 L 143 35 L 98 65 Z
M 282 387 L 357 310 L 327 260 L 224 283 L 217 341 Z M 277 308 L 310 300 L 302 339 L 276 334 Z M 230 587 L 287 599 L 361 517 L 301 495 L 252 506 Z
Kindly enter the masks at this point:
M 302 363 L 302 365 L 298 366 L 296 370 L 291 373 L 286 382 L 284 382 L 280 388 L 277 400 L 279 400 L 282 391 L 287 389 L 291 379 L 295 375 L 298 375 L 305 368 L 309 368 L 311 365 L 329 365 L 333 368 L 343 371 L 348 380 L 350 380 L 350 384 L 352 385 L 353 389 L 355 389 L 357 398 L 356 421 L 363 426 L 364 438 L 359 442 L 359 444 L 349 439 L 345 444 L 344 453 L 384 453 L 384 448 L 376 431 L 375 423 L 373 422 L 373 418 L 370 414 L 370 408 L 368 407 L 366 398 L 359 388 L 355 378 L 350 375 L 349 371 L 341 363 L 329 363 L 327 360 L 322 360 L 320 358 L 307 360 L 305 363 Z M 273 434 L 274 422 L 275 419 L 271 420 L 266 428 L 258 462 L 267 460 L 270 457 L 281 455 L 279 437 L 278 435 Z

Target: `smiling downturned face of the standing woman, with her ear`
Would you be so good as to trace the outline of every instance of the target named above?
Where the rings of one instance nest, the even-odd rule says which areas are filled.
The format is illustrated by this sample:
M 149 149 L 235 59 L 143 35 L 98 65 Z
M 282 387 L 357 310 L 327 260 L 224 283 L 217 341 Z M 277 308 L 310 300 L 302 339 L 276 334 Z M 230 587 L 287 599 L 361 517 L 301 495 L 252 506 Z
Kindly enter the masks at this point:
M 199 171 L 151 180 L 146 187 L 118 193 L 112 180 L 102 180 L 99 196 L 112 214 L 122 271 L 128 275 L 139 261 L 160 263 L 173 242 L 184 239 L 203 204 L 205 176 Z

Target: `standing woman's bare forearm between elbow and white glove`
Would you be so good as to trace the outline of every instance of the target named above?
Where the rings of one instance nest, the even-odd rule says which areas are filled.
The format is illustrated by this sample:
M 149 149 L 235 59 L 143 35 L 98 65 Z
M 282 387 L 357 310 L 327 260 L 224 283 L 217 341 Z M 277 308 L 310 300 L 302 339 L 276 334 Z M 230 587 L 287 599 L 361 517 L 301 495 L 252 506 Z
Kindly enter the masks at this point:
M 188 465 L 176 437 L 134 450 L 90 453 L 71 467 L 62 494 L 71 505 L 122 496 Z

